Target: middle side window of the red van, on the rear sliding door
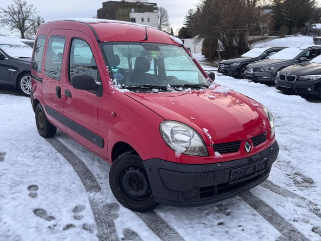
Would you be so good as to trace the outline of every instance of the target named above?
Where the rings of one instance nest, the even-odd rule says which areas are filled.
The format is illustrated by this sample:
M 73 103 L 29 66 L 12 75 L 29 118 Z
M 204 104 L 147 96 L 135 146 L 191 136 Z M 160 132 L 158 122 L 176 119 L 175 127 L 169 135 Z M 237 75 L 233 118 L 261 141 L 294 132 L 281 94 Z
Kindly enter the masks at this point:
M 48 77 L 60 80 L 61 66 L 64 57 L 66 38 L 64 36 L 51 36 L 48 41 L 45 74 Z

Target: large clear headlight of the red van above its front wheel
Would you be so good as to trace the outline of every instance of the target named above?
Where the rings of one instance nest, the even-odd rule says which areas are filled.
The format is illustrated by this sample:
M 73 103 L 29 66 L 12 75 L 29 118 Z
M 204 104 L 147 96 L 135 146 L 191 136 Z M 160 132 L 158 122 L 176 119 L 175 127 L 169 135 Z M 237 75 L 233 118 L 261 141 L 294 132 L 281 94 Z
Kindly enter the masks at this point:
M 175 151 L 177 157 L 180 157 L 181 154 L 208 156 L 202 138 L 191 127 L 179 122 L 165 121 L 161 123 L 159 129 L 164 141 Z

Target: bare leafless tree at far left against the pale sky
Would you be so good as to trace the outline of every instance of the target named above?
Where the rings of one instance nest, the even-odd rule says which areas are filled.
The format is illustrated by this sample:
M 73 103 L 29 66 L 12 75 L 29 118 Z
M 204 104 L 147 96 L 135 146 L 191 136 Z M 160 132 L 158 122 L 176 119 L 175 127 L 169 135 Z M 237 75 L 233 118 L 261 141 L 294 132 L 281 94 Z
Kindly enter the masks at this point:
M 14 0 L 7 8 L 0 8 L 0 23 L 12 31 L 20 31 L 21 38 L 31 31 L 35 24 L 37 8 L 25 0 Z

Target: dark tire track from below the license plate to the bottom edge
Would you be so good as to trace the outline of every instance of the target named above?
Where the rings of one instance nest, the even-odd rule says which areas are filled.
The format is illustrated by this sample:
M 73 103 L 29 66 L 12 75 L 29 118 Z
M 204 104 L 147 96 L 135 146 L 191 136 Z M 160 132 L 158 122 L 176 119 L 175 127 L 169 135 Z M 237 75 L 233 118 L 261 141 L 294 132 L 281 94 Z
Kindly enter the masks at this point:
M 272 207 L 263 202 L 260 198 L 247 191 L 239 194 L 239 197 L 257 211 L 265 220 L 275 227 L 282 235 L 279 240 L 305 241 L 305 238 L 295 227 L 281 217 Z

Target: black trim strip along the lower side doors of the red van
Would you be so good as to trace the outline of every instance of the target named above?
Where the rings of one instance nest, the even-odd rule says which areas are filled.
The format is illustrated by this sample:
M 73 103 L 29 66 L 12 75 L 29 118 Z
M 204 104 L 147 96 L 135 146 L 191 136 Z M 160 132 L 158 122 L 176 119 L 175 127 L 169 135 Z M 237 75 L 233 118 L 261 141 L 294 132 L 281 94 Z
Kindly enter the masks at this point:
M 91 143 L 95 144 L 96 146 L 103 148 L 105 143 L 104 139 L 97 134 L 93 133 L 92 131 L 89 131 L 88 129 L 84 128 L 83 126 L 77 124 L 76 122 L 72 121 L 68 117 L 60 114 L 56 110 L 52 109 L 48 105 L 45 106 L 46 111 L 49 115 L 51 115 L 53 118 L 55 118 L 58 122 L 62 123 L 69 129 L 73 130 L 83 138 L 86 138 Z

